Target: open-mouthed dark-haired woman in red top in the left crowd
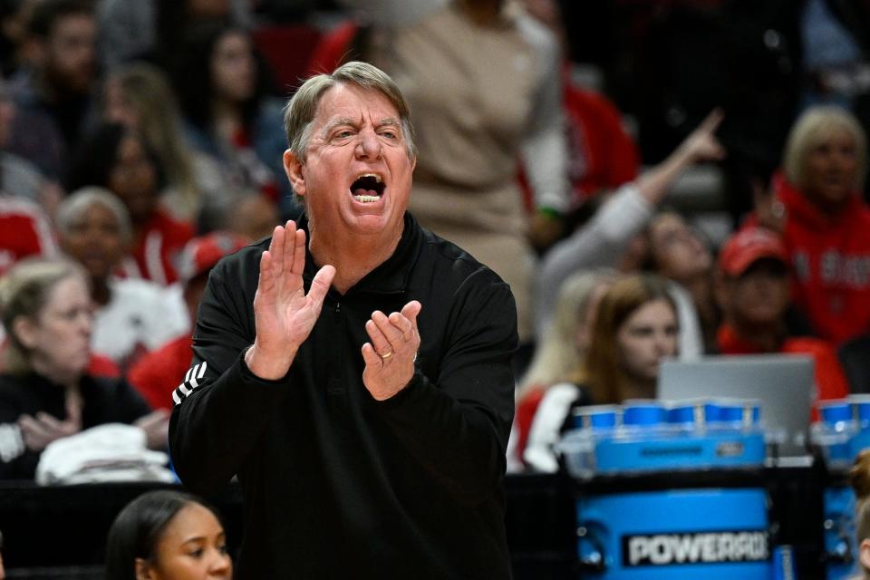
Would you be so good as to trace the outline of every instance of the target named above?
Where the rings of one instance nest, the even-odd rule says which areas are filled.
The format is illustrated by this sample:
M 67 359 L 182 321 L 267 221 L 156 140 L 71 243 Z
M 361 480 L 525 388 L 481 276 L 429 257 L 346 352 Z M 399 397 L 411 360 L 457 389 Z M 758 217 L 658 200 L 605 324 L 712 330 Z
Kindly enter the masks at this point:
M 77 151 L 66 189 L 97 186 L 118 196 L 130 214 L 130 253 L 135 258 L 124 262 L 125 274 L 169 285 L 178 279 L 175 261 L 193 237 L 193 227 L 172 218 L 161 206 L 164 175 L 160 160 L 140 133 L 104 123 Z

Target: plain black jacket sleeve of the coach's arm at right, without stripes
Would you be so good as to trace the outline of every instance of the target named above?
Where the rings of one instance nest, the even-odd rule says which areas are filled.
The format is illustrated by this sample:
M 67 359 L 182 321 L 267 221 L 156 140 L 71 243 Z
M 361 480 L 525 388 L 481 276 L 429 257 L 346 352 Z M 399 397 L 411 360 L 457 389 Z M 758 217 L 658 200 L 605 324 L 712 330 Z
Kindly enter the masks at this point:
M 455 298 L 438 376 L 430 380 L 418 369 L 380 404 L 411 454 L 455 498 L 473 505 L 490 498 L 505 473 L 517 310 L 509 286 L 486 269 L 469 276 Z

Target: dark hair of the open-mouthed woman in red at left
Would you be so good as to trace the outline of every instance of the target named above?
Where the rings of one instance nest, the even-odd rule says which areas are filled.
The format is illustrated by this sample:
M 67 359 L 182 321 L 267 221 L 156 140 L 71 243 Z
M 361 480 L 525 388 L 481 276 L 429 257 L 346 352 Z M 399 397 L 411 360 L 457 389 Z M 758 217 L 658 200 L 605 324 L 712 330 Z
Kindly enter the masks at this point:
M 154 167 L 156 189 L 163 189 L 166 186 L 166 174 L 157 154 L 143 136 L 120 123 L 102 123 L 85 136 L 81 146 L 73 154 L 73 160 L 63 179 L 63 187 L 67 191 L 88 186 L 109 189 L 109 178 L 111 170 L 118 162 L 121 140 L 128 136 L 139 140 Z

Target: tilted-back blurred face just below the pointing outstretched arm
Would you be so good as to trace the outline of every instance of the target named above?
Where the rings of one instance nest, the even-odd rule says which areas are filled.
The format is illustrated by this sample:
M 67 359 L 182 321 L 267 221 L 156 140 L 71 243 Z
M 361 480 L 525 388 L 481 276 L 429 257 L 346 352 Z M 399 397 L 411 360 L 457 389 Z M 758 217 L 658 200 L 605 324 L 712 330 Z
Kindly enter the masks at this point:
M 652 220 L 649 232 L 650 251 L 659 274 L 681 282 L 710 272 L 710 250 L 680 216 L 662 214 Z

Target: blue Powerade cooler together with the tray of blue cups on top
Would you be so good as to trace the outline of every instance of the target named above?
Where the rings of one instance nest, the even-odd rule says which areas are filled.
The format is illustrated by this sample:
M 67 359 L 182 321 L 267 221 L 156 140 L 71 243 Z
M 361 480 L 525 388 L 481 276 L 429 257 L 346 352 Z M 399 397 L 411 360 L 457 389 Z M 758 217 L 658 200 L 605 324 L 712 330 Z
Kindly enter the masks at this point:
M 626 401 L 581 409 L 575 426 L 559 450 L 578 488 L 582 577 L 777 577 L 757 402 Z

